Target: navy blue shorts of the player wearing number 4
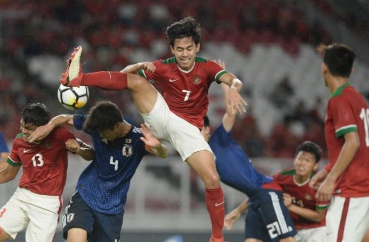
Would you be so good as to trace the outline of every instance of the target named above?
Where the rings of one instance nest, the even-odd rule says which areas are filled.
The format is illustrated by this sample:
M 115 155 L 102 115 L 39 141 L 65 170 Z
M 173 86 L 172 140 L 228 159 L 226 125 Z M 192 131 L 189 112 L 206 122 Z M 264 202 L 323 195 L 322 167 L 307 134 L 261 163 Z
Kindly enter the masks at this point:
M 87 231 L 88 241 L 120 241 L 120 230 L 123 223 L 124 210 L 119 214 L 103 214 L 91 209 L 76 192 L 62 217 L 63 237 L 67 239 L 68 230 L 82 228 Z

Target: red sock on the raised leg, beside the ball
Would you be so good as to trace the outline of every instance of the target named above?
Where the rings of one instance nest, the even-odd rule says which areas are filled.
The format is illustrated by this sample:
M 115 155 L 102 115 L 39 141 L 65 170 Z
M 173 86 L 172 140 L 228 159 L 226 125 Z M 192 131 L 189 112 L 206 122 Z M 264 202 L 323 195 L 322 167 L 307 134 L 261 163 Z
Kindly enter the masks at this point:
M 127 74 L 121 72 L 93 72 L 83 74 L 81 85 L 100 87 L 105 90 L 127 88 Z

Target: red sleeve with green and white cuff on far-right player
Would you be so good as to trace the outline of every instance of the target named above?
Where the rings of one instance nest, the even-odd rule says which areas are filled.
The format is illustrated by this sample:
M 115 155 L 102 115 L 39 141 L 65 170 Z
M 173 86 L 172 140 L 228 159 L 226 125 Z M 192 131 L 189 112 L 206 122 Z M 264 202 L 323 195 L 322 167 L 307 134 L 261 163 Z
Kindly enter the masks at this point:
M 349 132 L 357 132 L 354 113 L 346 99 L 342 97 L 330 99 L 329 109 L 333 117 L 337 138 Z

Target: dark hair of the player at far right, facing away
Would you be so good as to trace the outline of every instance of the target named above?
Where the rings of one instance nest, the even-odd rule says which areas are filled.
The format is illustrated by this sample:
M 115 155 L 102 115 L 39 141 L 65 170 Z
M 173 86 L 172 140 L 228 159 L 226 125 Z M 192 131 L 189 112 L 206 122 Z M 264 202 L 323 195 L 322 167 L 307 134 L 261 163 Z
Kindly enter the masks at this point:
M 355 61 L 354 51 L 345 44 L 319 45 L 318 53 L 333 76 L 349 77 Z

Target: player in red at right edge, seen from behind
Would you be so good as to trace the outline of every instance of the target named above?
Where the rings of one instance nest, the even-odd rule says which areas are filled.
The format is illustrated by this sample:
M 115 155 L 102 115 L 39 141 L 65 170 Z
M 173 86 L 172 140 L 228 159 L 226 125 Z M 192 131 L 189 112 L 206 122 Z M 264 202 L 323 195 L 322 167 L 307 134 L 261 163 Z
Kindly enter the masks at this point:
M 369 107 L 349 83 L 355 53 L 320 45 L 322 76 L 331 93 L 325 121 L 330 163 L 310 181 L 319 201 L 331 200 L 327 241 L 361 241 L 369 226 Z

